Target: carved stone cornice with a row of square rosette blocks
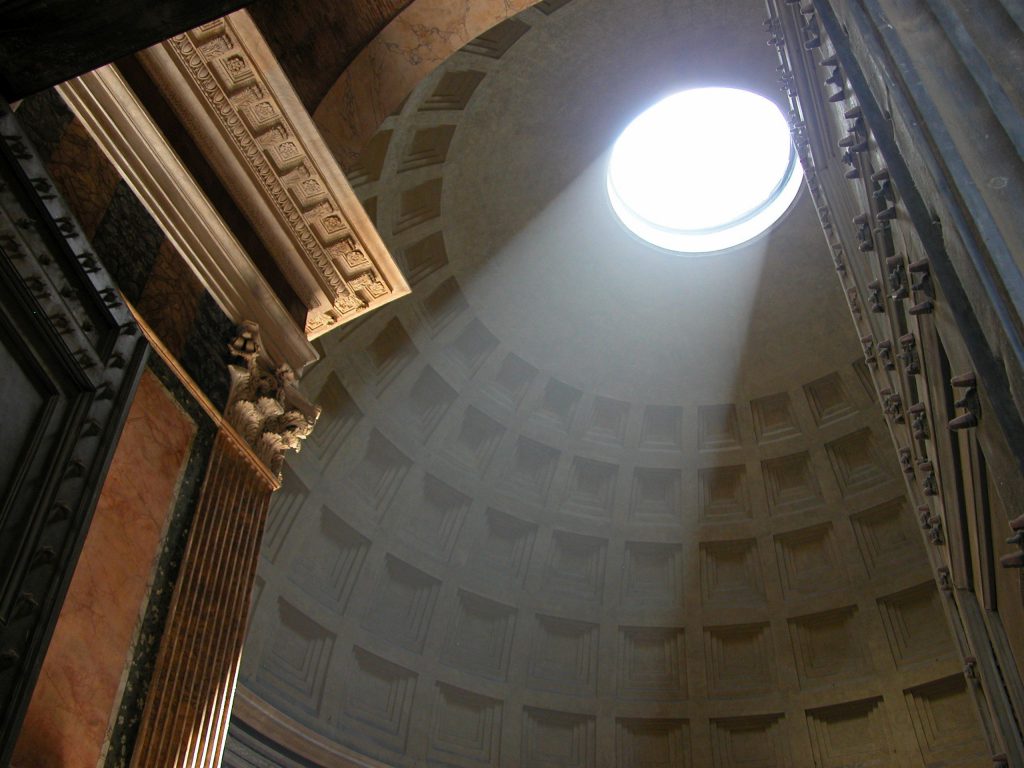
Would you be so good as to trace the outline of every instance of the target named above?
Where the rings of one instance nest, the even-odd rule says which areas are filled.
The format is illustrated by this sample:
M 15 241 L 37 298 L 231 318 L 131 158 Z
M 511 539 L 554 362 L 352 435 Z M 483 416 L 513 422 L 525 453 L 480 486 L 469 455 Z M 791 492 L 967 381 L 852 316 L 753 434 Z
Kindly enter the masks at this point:
M 308 338 L 409 293 L 248 13 L 141 56 L 306 303 Z

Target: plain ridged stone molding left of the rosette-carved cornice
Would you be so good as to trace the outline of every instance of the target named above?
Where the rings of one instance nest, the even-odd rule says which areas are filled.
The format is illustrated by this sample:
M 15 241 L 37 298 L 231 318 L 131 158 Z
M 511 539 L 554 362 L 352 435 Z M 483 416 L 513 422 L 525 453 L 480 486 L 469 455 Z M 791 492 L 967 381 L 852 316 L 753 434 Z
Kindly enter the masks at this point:
M 224 313 L 258 323 L 279 364 L 301 372 L 316 360 L 303 329 L 118 71 L 103 67 L 57 91 Z

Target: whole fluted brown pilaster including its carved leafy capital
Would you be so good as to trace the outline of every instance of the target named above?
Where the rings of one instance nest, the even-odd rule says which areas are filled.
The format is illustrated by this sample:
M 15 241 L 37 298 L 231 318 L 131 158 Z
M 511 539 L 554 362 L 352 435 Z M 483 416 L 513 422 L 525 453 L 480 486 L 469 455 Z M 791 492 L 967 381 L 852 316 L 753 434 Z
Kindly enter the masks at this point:
M 229 367 L 225 423 L 174 588 L 133 768 L 220 765 L 270 497 L 284 452 L 298 450 L 319 414 L 289 369 L 261 357 L 254 325 L 240 329 L 230 351 L 247 366 Z

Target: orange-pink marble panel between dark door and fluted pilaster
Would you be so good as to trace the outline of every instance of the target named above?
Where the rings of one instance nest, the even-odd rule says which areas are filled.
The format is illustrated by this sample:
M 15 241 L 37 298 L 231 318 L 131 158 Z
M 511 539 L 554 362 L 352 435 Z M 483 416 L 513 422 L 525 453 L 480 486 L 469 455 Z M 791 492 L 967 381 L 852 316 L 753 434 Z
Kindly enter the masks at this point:
M 146 371 L 33 693 L 13 768 L 95 768 L 196 425 Z

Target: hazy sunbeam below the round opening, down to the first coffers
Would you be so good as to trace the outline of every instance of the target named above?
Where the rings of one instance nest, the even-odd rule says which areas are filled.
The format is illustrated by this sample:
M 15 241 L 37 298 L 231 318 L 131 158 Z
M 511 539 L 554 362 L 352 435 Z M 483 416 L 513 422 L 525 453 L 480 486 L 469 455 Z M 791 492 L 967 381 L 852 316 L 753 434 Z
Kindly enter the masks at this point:
M 615 219 L 607 162 L 599 157 L 499 252 L 470 265 L 451 249 L 463 291 L 511 349 L 589 391 L 728 401 L 771 239 L 713 259 L 652 248 Z

